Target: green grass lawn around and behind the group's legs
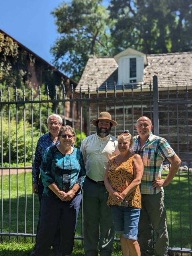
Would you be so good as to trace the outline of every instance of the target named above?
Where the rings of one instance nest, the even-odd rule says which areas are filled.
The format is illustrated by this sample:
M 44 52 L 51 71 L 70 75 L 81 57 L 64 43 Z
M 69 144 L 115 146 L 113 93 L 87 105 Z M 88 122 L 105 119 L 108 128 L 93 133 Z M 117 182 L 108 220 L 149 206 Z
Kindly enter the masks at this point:
M 36 233 L 39 200 L 37 195 L 32 194 L 31 173 L 8 175 L 2 177 L 3 190 L 0 187 L 0 194 L 3 191 L 3 216 L 1 227 L 2 232 Z M 17 193 L 18 186 L 18 193 Z M 169 187 L 165 188 L 165 205 L 167 208 L 167 224 L 171 247 L 190 248 L 190 211 L 192 202 L 192 178 L 175 177 Z M 25 196 L 26 190 L 26 196 Z M 10 200 L 9 200 L 10 194 Z M 34 212 L 33 212 L 34 205 Z M 2 209 L 2 200 L 0 201 Z M 17 221 L 18 216 L 18 221 Z M 34 226 L 33 226 L 34 218 Z M 172 225 L 171 225 L 172 224 Z M 76 236 L 81 236 L 81 214 L 79 216 Z M 34 227 L 34 230 L 33 230 Z M 24 242 L 25 241 L 25 242 Z M 27 255 L 33 248 L 32 238 L 3 236 L 0 243 L 0 255 L 17 256 Z M 120 244 L 118 248 L 114 243 L 113 255 L 121 255 Z M 73 255 L 84 255 L 81 241 L 77 240 L 74 246 Z

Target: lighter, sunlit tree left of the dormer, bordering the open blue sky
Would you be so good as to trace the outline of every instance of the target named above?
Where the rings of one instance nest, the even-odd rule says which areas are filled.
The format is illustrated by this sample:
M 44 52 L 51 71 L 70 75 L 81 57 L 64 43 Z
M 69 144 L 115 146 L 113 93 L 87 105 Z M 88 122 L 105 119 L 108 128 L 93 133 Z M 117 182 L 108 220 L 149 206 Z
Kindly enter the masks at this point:
M 107 56 L 111 52 L 111 22 L 101 3 L 102 0 L 72 0 L 52 12 L 61 34 L 51 48 L 54 65 L 76 81 L 90 56 Z

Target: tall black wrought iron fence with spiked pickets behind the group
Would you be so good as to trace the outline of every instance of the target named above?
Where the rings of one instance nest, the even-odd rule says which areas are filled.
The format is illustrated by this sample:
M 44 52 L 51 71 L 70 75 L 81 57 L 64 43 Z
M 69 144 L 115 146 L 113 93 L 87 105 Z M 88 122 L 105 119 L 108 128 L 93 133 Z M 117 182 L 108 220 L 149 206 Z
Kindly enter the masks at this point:
M 53 112 L 63 116 L 64 124 L 90 135 L 95 132 L 91 120 L 101 111 L 112 114 L 118 126 L 116 136 L 134 125 L 140 116 L 149 116 L 154 134 L 167 138 L 176 153 L 186 162 L 172 183 L 165 188 L 170 250 L 192 253 L 191 186 L 192 172 L 192 90 L 167 88 L 158 92 L 157 77 L 153 86 L 143 90 L 143 84 L 116 86 L 104 92 L 75 92 L 55 87 L 55 97 L 49 90 L 33 88 L 21 91 L 8 88 L 0 92 L 1 130 L 1 239 L 11 236 L 35 237 L 39 202 L 32 194 L 31 164 L 39 136 L 47 132 L 46 119 Z M 82 140 L 82 136 L 81 136 Z M 188 165 L 188 166 L 187 166 Z M 191 166 L 192 168 L 192 166 Z M 167 175 L 168 165 L 165 166 Z M 79 216 L 76 239 L 83 240 L 83 216 Z M 116 238 L 118 241 L 118 238 Z M 187 249 L 185 249 L 187 248 Z

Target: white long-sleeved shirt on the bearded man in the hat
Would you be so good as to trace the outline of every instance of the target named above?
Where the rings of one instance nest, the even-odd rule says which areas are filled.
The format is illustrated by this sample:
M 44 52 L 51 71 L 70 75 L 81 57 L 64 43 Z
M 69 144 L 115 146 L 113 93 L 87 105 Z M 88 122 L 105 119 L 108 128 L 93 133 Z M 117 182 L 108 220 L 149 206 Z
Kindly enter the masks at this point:
M 95 133 L 84 138 L 80 150 L 85 163 L 86 175 L 95 181 L 104 180 L 109 159 L 120 153 L 117 139 L 110 134 L 101 138 Z

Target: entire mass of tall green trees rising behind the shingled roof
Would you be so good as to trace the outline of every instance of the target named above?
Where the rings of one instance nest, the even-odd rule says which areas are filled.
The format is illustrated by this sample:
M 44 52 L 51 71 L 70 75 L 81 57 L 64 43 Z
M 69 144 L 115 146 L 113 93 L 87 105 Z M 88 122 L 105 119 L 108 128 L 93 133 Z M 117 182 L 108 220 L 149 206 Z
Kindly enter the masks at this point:
M 192 0 L 72 0 L 52 14 L 61 34 L 54 64 L 76 81 L 90 56 L 192 50 Z

